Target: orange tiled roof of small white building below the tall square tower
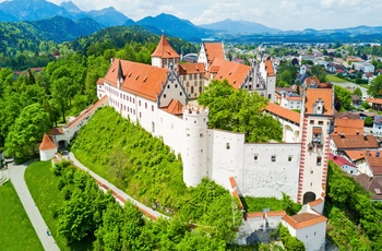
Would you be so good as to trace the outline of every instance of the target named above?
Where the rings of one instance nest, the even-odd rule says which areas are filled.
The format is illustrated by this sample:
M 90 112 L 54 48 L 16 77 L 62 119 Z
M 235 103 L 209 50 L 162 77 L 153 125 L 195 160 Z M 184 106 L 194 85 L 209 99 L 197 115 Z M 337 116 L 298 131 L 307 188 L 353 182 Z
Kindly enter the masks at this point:
M 326 217 L 320 214 L 311 214 L 311 213 L 301 213 L 293 216 L 285 215 L 283 219 L 286 223 L 288 223 L 290 227 L 295 229 L 310 227 L 320 223 L 325 223 L 327 220 Z

